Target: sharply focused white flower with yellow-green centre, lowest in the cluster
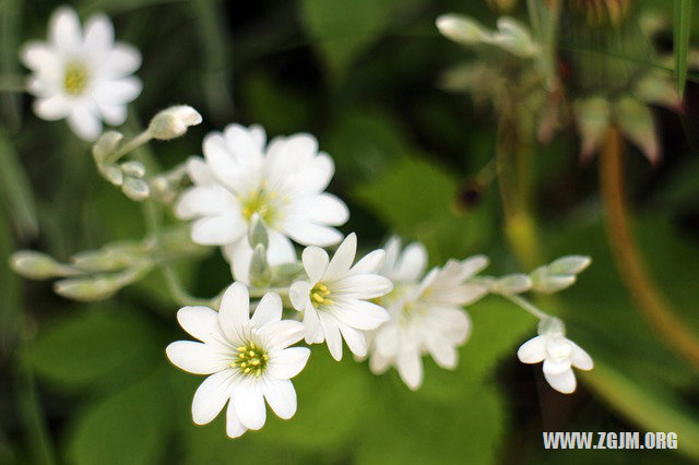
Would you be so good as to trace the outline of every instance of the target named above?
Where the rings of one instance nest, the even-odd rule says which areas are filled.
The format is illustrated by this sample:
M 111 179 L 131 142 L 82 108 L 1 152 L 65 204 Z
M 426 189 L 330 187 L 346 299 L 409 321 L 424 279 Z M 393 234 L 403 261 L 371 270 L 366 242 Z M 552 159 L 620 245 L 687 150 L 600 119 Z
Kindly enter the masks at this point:
M 221 302 L 221 311 L 185 307 L 177 313 L 180 325 L 201 341 L 178 341 L 167 357 L 185 371 L 210 374 L 192 403 L 197 425 L 213 420 L 228 402 L 226 431 L 237 438 L 264 425 L 264 400 L 274 413 L 288 419 L 296 413 L 296 391 L 289 381 L 308 360 L 306 347 L 288 347 L 304 335 L 298 321 L 281 320 L 282 300 L 270 293 L 262 297 L 252 318 L 246 286 L 234 283 Z

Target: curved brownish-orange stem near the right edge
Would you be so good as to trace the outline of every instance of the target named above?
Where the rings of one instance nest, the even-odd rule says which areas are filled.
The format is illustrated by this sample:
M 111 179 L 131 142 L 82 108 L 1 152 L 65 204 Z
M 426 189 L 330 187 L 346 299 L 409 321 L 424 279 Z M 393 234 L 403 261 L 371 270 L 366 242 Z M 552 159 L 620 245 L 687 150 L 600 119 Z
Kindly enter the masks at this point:
M 621 278 L 647 323 L 679 355 L 699 369 L 699 339 L 680 321 L 650 277 L 631 230 L 624 192 L 624 146 L 618 129 L 607 130 L 600 156 L 605 226 Z

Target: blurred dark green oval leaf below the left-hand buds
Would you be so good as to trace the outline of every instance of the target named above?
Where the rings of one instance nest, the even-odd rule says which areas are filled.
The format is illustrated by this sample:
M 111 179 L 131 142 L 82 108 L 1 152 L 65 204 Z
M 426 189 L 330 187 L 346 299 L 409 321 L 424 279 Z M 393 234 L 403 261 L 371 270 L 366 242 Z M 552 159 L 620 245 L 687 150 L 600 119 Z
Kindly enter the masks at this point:
M 139 373 L 154 354 L 147 325 L 127 309 L 78 308 L 39 332 L 25 354 L 38 377 L 66 389 L 104 382 L 115 372 Z M 122 382 L 122 375 L 117 381 Z

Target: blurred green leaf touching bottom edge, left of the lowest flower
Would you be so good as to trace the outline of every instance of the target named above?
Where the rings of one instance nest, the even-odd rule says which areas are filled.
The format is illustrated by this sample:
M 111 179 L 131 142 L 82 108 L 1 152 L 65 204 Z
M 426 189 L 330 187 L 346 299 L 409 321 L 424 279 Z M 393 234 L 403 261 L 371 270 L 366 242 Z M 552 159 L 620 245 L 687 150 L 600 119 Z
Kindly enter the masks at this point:
M 91 405 L 73 424 L 67 462 L 76 465 L 159 463 L 169 433 L 165 368 Z

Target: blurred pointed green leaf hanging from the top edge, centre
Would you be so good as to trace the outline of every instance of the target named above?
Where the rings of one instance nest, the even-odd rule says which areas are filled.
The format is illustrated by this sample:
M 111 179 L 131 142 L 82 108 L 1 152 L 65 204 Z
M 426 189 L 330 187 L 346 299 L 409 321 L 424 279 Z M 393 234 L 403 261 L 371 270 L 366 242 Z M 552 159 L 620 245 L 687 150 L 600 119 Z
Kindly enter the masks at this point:
M 342 79 L 389 23 L 395 0 L 299 0 L 301 23 L 333 78 Z

